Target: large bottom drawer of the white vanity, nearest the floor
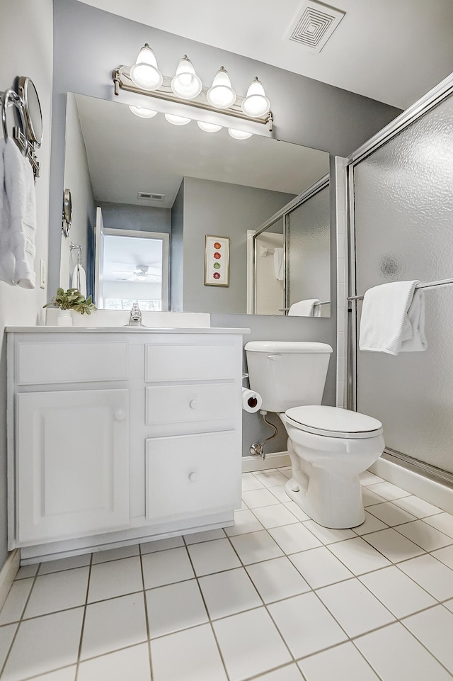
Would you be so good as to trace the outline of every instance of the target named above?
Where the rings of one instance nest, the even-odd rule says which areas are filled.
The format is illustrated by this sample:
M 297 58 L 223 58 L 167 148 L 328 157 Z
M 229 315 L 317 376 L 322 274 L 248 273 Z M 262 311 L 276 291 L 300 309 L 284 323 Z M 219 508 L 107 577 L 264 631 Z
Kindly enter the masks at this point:
M 156 437 L 146 443 L 148 520 L 241 506 L 238 432 Z

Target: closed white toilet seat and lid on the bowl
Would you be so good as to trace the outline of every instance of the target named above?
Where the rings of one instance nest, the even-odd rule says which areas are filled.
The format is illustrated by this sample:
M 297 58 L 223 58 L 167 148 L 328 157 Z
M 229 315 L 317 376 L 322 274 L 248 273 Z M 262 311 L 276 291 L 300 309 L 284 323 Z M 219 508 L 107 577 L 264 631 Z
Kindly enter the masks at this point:
M 383 432 L 382 423 L 377 419 L 340 407 L 291 407 L 285 412 L 285 418 L 299 430 L 325 437 L 368 438 Z

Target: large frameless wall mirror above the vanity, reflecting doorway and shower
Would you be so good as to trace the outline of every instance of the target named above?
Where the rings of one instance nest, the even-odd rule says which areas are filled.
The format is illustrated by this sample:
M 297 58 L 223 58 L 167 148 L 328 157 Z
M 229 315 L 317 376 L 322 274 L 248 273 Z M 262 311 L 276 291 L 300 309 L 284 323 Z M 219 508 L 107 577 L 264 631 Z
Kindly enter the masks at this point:
M 71 286 L 81 253 L 87 295 L 102 308 L 138 300 L 144 310 L 285 315 L 298 298 L 327 302 L 328 184 L 322 199 L 306 199 L 328 167 L 327 152 L 264 135 L 235 140 L 225 128 L 171 125 L 162 113 L 142 118 L 125 103 L 69 93 L 72 223 L 60 285 Z M 219 237 L 209 248 L 207 235 Z M 271 273 L 266 281 L 258 261 Z M 279 291 L 273 304 L 270 288 Z M 329 306 L 314 316 L 330 316 Z

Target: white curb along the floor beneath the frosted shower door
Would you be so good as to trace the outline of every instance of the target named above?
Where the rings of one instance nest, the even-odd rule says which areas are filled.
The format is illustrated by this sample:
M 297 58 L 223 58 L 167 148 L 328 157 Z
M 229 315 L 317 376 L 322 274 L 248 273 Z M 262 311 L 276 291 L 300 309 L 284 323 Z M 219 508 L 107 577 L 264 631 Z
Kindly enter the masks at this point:
M 420 499 L 427 501 L 448 513 L 453 513 L 453 489 L 437 483 L 435 480 L 425 478 L 425 475 L 410 471 L 408 468 L 399 466 L 394 461 L 386 458 L 378 458 L 376 463 L 369 468 L 375 475 L 388 480 L 398 487 L 403 488 Z

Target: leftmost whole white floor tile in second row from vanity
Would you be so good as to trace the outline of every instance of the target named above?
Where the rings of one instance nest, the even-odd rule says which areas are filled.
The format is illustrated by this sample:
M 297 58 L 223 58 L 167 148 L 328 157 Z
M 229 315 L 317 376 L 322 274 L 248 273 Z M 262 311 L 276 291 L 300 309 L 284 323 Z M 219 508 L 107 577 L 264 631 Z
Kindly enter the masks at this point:
M 84 605 L 90 568 L 74 568 L 37 577 L 24 619 Z

